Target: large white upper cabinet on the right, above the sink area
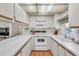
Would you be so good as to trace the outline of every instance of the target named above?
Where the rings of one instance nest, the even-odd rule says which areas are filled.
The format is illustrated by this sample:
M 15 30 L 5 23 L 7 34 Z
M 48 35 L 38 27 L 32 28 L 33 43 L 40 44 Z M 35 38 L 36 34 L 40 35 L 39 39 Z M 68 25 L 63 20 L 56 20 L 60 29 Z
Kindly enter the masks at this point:
M 79 27 L 79 3 L 69 4 L 70 27 Z

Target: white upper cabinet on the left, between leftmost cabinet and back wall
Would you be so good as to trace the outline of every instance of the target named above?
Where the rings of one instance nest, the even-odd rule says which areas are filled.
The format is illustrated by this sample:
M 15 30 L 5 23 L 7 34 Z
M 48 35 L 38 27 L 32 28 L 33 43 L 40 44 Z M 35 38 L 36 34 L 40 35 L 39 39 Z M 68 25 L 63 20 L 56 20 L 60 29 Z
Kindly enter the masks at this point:
M 18 4 L 15 4 L 15 20 L 28 23 L 29 16 L 26 14 L 26 12 L 19 6 Z

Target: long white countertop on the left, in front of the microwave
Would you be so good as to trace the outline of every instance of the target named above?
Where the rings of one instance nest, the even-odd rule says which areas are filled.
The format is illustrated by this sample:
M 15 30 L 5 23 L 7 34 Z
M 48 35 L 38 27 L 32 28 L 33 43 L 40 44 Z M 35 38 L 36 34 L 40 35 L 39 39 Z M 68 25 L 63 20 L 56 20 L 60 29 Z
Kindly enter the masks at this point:
M 0 41 L 0 56 L 15 55 L 17 51 L 30 39 L 31 36 L 19 35 Z

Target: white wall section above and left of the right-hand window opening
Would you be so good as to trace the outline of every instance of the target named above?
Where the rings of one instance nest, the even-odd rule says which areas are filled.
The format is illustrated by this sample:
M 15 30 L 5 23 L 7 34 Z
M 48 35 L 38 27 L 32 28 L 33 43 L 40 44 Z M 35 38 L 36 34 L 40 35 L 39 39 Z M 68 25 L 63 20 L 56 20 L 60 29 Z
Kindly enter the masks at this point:
M 60 28 L 61 23 L 59 23 L 59 21 L 64 20 L 66 18 L 68 18 L 68 10 L 66 10 L 62 13 L 59 13 L 59 14 L 55 14 L 55 16 L 54 16 L 54 27 Z

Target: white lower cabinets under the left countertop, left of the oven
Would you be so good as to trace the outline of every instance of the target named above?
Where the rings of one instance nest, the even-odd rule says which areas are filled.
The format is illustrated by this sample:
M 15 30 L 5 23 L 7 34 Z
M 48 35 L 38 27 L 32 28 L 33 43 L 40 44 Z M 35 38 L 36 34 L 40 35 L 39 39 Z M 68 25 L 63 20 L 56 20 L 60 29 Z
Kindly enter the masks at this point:
M 32 50 L 34 50 L 34 40 L 30 38 L 30 41 L 27 42 L 16 56 L 30 56 Z

